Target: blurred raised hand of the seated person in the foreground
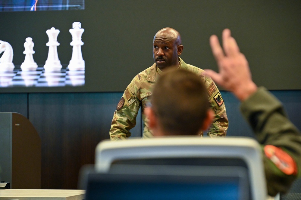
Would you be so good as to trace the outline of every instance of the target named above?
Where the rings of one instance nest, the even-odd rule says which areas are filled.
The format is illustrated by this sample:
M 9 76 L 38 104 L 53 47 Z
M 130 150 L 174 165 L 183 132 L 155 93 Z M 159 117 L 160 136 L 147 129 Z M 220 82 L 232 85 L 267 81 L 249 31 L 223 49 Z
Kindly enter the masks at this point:
M 222 39 L 224 51 L 218 37 L 216 35 L 210 37 L 210 46 L 218 64 L 219 73 L 211 69 L 205 69 L 205 71 L 217 84 L 233 92 L 239 100 L 246 100 L 257 90 L 256 84 L 252 81 L 248 61 L 240 53 L 229 29 L 224 29 Z

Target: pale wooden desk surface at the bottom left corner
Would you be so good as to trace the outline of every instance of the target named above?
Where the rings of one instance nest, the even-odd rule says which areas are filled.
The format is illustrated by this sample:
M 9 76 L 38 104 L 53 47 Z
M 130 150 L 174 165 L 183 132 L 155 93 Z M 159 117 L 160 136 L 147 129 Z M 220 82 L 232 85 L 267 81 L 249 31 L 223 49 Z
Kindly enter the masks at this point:
M 82 200 L 85 190 L 79 189 L 1 189 L 0 200 Z

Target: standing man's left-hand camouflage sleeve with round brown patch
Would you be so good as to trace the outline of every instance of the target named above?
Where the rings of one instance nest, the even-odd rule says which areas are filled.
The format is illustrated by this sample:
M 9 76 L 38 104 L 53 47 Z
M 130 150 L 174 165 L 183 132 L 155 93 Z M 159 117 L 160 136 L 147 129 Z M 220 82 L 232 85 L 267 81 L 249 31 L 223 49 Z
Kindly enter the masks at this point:
M 116 106 L 110 129 L 111 140 L 123 140 L 131 136 L 130 129 L 136 125 L 140 100 L 135 97 L 131 83 Z

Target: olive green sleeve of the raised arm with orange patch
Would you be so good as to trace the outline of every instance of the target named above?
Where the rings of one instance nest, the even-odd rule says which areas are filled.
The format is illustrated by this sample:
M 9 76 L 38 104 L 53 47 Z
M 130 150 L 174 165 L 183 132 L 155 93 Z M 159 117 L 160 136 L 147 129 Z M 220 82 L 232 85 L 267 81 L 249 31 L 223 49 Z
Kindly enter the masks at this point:
M 241 104 L 241 112 L 262 144 L 268 194 L 287 192 L 301 175 L 301 134 L 283 106 L 265 88 Z

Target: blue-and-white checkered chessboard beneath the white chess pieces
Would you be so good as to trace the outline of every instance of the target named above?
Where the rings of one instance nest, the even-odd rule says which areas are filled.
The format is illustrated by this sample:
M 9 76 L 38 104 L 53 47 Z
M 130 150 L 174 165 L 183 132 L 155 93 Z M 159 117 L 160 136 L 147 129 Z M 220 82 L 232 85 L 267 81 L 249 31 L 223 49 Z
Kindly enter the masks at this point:
M 4 87 L 64 87 L 85 85 L 85 71 L 60 71 L 45 72 L 43 67 L 36 71 L 0 72 L 0 88 Z

